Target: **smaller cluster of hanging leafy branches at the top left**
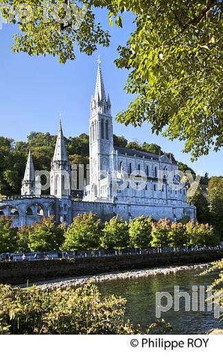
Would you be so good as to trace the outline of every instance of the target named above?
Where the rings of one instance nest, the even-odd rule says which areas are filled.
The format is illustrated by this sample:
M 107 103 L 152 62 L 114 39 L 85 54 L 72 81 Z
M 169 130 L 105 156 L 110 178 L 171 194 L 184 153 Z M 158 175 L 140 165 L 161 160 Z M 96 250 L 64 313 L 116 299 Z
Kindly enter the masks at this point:
M 8 23 L 16 23 L 16 19 L 14 16 L 10 16 L 6 5 L 10 6 L 11 13 L 16 10 L 18 5 L 21 5 L 21 9 L 32 10 L 28 21 L 18 19 L 17 23 L 19 23 L 21 33 L 14 35 L 12 50 L 27 52 L 30 56 L 58 55 L 60 63 L 65 63 L 68 59 L 75 59 L 74 47 L 76 46 L 81 52 L 88 55 L 93 54 L 97 45 L 107 47 L 110 36 L 107 31 L 102 29 L 100 23 L 95 23 L 95 14 L 91 8 L 93 2 L 84 1 L 89 6 L 82 8 L 80 2 L 75 0 L 51 2 L 34 0 L 30 1 L 28 6 L 25 5 L 25 8 L 24 5 L 21 5 L 23 4 L 21 0 L 3 0 L 3 17 L 7 19 Z M 54 5 L 61 5 L 56 16 Z M 70 11 L 70 19 L 64 21 L 65 23 L 62 23 L 62 19 L 66 16 L 62 5 Z M 75 5 L 74 10 L 72 5 Z M 84 16 L 82 16 L 81 10 L 84 10 Z

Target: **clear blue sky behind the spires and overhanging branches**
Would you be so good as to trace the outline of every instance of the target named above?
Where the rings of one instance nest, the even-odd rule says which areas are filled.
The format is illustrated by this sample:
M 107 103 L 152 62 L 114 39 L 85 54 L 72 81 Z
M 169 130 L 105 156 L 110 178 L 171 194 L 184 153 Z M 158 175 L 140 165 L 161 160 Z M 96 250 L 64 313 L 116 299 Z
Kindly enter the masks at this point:
M 110 30 L 110 47 L 100 46 L 91 57 L 80 54 L 76 49 L 76 60 L 66 65 L 60 65 L 58 58 L 50 56 L 13 54 L 12 34 L 16 32 L 16 27 L 3 24 L 0 30 L 0 135 L 25 140 L 31 131 L 56 134 L 60 111 L 64 135 L 88 133 L 89 105 L 95 90 L 99 54 L 113 117 L 128 106 L 131 96 L 124 91 L 128 73 L 117 69 L 113 61 L 117 58 L 117 46 L 126 43 L 133 29 L 132 19 L 126 16 L 123 30 L 116 26 L 110 28 L 103 11 L 97 13 L 97 20 Z M 223 174 L 223 150 L 210 152 L 208 156 L 191 163 L 190 155 L 182 152 L 183 142 L 152 135 L 149 124 L 133 128 L 114 120 L 114 133 L 124 135 L 130 141 L 137 139 L 141 143 L 158 143 L 164 151 L 173 152 L 178 161 L 187 163 L 196 172 L 209 172 L 209 176 Z

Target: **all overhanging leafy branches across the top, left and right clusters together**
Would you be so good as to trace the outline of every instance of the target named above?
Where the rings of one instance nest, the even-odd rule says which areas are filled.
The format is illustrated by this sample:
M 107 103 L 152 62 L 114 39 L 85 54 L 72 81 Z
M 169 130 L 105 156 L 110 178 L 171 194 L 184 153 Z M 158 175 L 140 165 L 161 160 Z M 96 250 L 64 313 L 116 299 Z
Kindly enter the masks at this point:
M 149 122 L 153 133 L 185 141 L 192 159 L 222 147 L 221 0 L 84 0 L 82 8 L 78 0 L 54 0 L 48 8 L 46 0 L 34 0 L 25 9 L 30 17 L 23 0 L 2 3 L 3 17 L 21 31 L 13 51 L 59 56 L 61 63 L 75 59 L 76 47 L 91 55 L 109 45 L 95 8 L 108 10 L 110 25 L 119 27 L 132 13 L 135 30 L 118 47 L 115 64 L 128 69 L 126 91 L 135 99 L 118 121 Z

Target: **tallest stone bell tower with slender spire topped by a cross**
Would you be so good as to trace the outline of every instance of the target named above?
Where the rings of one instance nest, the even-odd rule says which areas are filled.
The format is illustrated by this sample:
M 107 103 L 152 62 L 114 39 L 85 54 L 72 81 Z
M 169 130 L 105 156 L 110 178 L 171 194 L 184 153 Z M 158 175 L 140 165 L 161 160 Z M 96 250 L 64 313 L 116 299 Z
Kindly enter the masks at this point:
M 95 96 L 91 97 L 90 119 L 90 185 L 95 198 L 99 197 L 100 180 L 113 172 L 113 118 L 110 97 L 106 96 L 101 60 L 98 58 Z

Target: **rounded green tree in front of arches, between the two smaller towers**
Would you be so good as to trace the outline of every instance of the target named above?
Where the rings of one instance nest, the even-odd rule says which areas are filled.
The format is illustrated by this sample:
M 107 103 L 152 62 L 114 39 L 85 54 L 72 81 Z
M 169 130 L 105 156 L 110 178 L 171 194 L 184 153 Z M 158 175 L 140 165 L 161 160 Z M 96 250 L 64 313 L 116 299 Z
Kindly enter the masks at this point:
M 58 251 L 64 242 L 64 225 L 58 226 L 54 216 L 35 222 L 28 235 L 30 251 Z

